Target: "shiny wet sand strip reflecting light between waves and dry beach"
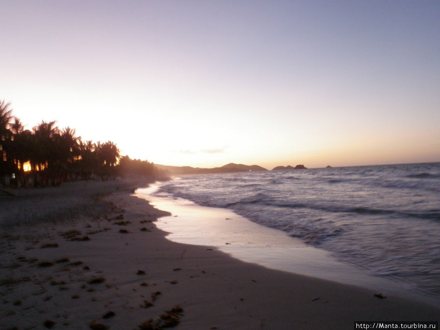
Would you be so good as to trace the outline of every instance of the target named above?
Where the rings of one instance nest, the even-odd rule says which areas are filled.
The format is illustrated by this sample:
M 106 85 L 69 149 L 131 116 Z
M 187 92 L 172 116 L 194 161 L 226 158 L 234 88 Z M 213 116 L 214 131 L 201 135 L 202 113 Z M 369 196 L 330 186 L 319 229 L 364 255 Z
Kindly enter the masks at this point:
M 434 294 L 417 290 L 416 286 L 396 278 L 374 275 L 357 264 L 340 261 L 331 251 L 248 220 L 231 209 L 155 196 L 157 190 L 158 185 L 154 183 L 135 193 L 154 207 L 172 213 L 156 222 L 159 229 L 169 232 L 167 238 L 172 242 L 212 245 L 243 262 L 440 306 L 439 297 Z

